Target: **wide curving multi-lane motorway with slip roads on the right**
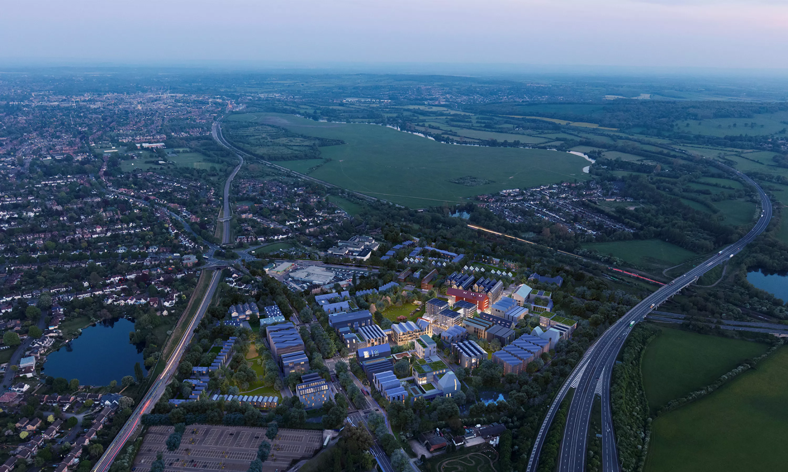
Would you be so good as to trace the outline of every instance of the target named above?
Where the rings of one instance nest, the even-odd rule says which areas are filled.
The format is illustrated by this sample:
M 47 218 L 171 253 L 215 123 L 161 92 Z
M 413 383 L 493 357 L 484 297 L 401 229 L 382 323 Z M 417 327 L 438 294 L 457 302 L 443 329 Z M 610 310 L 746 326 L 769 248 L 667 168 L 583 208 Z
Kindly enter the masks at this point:
M 728 171 L 735 173 L 747 183 L 754 186 L 760 195 L 761 208 L 763 212 L 757 223 L 749 233 L 728 246 L 719 253 L 698 264 L 686 274 L 675 278 L 665 286 L 661 286 L 656 292 L 646 297 L 637 304 L 626 315 L 615 322 L 608 330 L 602 334 L 596 342 L 585 352 L 580 362 L 574 367 L 572 373 L 561 385 L 559 393 L 552 400 L 548 408 L 548 414 L 542 422 L 533 450 L 528 460 L 526 472 L 537 470 L 539 455 L 542 445 L 545 442 L 552 420 L 555 418 L 560 404 L 570 389 L 575 389 L 572 396 L 569 411 L 567 413 L 567 424 L 563 431 L 563 441 L 559 451 L 559 471 L 576 472 L 585 470 L 586 445 L 588 441 L 589 420 L 593 402 L 597 393 L 602 397 L 602 470 L 604 472 L 619 472 L 619 456 L 615 446 L 615 431 L 613 429 L 611 405 L 610 405 L 610 379 L 615 359 L 619 355 L 624 341 L 634 323 L 645 319 L 645 316 L 652 312 L 654 308 L 673 297 L 697 278 L 704 275 L 707 271 L 730 260 L 732 256 L 742 250 L 742 248 L 752 242 L 759 234 L 766 230 L 771 220 L 771 201 L 764 193 L 764 190 L 757 183 L 742 172 L 727 168 Z

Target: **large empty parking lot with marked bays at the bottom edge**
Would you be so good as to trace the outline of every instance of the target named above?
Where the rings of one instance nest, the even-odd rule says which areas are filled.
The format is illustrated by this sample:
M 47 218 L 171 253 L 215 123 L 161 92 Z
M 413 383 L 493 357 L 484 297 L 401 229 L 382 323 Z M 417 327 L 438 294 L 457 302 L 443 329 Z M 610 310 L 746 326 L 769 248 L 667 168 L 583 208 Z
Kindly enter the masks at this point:
M 158 452 L 164 455 L 165 470 L 247 470 L 266 437 L 266 428 L 246 426 L 191 425 L 186 428 L 177 451 L 169 452 L 165 441 L 173 426 L 151 426 L 134 461 L 134 472 L 148 472 Z M 271 443 L 271 455 L 263 472 L 286 470 L 291 463 L 308 459 L 323 445 L 321 430 L 281 429 Z

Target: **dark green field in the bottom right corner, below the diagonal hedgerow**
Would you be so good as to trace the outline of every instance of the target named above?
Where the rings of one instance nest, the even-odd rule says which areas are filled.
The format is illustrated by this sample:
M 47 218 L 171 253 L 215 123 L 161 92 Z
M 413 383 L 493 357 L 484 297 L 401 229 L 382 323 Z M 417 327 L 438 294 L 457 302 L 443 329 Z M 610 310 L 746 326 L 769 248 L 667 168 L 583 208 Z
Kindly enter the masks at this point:
M 648 352 L 648 351 L 647 351 Z M 645 472 L 785 470 L 788 348 L 652 423 Z

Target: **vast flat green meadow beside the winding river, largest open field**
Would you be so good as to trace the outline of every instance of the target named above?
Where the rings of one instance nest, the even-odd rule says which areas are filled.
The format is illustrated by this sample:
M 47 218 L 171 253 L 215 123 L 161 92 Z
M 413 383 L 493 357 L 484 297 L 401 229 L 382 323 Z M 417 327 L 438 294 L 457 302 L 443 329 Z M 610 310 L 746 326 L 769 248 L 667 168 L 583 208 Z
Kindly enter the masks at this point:
M 498 190 L 589 178 L 582 172 L 585 159 L 546 149 L 453 146 L 374 124 L 325 123 L 284 114 L 232 115 L 228 120 L 255 120 L 300 135 L 342 139 L 344 145 L 320 148 L 322 157 L 332 161 L 310 173 L 311 177 L 414 208 L 459 203 Z M 287 168 L 301 165 L 293 160 L 277 164 Z M 482 184 L 449 182 L 466 176 Z

